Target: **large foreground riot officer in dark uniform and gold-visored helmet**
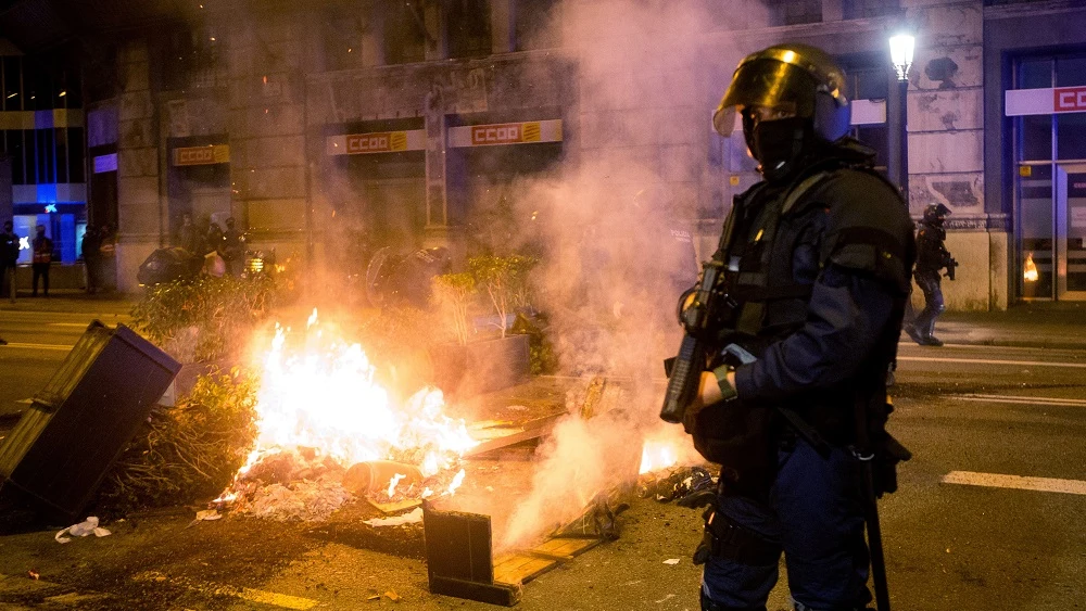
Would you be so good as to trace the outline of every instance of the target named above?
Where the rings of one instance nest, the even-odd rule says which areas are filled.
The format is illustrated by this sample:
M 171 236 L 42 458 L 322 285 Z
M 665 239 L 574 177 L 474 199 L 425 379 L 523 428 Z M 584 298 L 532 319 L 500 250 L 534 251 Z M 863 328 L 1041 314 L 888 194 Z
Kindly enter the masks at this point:
M 714 115 L 724 136 L 742 116 L 763 180 L 735 199 L 714 255 L 729 279 L 717 336 L 757 359 L 708 364 L 683 420 L 721 464 L 695 553 L 703 610 L 765 610 L 782 551 L 797 610 L 871 600 L 850 447 L 870 436 L 876 461 L 907 458 L 883 424 L 915 246 L 873 151 L 846 137 L 844 84 L 823 51 L 774 46 L 740 63 Z M 889 471 L 875 493 L 895 488 Z

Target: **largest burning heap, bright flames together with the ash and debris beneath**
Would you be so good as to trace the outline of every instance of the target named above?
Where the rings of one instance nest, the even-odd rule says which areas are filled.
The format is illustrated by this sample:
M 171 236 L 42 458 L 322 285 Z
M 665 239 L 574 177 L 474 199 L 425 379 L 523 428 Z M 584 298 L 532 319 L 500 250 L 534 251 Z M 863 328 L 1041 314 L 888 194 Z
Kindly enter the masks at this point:
M 325 520 L 353 497 L 383 510 L 453 494 L 478 442 L 444 415 L 441 391 L 402 403 L 375 381 L 362 346 L 318 324 L 298 340 L 277 326 L 262 358 L 256 447 L 217 508 L 274 520 Z

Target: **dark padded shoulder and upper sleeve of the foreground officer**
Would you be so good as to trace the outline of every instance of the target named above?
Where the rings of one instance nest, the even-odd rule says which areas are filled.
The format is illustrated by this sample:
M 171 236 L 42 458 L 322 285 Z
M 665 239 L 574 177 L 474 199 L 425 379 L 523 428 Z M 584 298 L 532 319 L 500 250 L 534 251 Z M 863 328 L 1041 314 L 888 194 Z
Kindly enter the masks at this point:
M 897 188 L 873 171 L 841 169 L 823 181 L 818 199 L 829 214 L 823 265 L 872 273 L 907 293 L 915 242 Z

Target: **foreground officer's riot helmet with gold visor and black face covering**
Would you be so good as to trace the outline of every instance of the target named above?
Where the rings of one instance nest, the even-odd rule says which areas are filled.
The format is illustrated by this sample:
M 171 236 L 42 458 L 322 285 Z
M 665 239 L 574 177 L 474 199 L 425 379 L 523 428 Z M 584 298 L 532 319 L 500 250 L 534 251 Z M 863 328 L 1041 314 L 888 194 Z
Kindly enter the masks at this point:
M 843 88 L 845 73 L 821 49 L 775 44 L 747 55 L 728 86 L 712 126 L 731 136 L 735 113 L 743 114 L 747 148 L 768 180 L 787 176 L 818 141 L 833 142 L 849 128 L 850 109 Z M 787 107 L 794 117 L 755 120 L 755 106 Z

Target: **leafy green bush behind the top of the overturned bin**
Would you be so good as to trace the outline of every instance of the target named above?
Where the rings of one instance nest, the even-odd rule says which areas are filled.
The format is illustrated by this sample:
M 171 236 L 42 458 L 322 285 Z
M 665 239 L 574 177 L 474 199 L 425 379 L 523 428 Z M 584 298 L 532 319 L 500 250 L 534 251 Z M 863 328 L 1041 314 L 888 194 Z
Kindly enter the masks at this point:
M 132 327 L 180 360 L 216 360 L 238 354 L 276 301 L 272 275 L 201 276 L 148 289 L 132 307 Z

